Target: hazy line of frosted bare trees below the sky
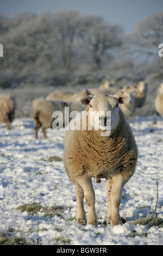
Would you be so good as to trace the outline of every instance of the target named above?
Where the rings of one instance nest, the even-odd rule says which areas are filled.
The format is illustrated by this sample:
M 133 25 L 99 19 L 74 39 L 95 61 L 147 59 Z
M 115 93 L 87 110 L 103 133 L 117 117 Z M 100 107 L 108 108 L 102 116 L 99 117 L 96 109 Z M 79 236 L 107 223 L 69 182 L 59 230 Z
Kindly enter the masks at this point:
M 126 70 L 131 69 L 135 54 L 152 56 L 156 68 L 162 65 L 156 54 L 163 42 L 162 29 L 163 12 L 147 17 L 128 36 L 121 25 L 80 15 L 78 10 L 27 11 L 10 18 L 0 14 L 0 87 L 28 82 L 65 84 L 75 76 L 84 83 L 91 72 L 121 71 L 125 63 Z

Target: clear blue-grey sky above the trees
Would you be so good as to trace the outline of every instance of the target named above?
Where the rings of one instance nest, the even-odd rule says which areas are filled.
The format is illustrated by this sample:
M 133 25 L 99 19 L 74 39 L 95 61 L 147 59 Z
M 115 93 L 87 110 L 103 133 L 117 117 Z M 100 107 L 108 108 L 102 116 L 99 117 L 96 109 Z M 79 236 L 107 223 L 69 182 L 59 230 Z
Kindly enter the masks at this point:
M 20 11 L 42 13 L 63 9 L 80 10 L 80 14 L 102 16 L 112 24 L 120 24 L 129 34 L 138 22 L 163 11 L 163 0 L 0 0 L 0 13 L 13 16 Z

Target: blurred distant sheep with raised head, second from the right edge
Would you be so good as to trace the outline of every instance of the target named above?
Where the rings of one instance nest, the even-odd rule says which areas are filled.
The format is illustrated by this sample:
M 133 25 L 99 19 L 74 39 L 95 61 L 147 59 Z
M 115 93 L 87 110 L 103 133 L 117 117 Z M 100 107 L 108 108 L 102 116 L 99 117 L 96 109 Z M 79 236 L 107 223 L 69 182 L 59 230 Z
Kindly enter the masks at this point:
M 142 107 L 145 104 L 146 97 L 147 97 L 147 84 L 148 82 L 139 82 L 136 85 L 135 92 L 136 92 L 136 99 L 135 99 L 135 107 Z

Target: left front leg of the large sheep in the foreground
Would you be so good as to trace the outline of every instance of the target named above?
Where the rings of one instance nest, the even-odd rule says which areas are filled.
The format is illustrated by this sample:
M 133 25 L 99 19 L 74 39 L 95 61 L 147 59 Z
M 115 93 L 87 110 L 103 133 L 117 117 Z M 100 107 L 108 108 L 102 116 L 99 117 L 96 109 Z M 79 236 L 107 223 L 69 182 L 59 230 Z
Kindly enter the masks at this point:
M 92 180 L 89 176 L 83 176 L 83 178 L 78 179 L 78 182 L 83 188 L 84 197 L 87 204 L 87 224 L 96 226 L 95 191 L 93 190 Z

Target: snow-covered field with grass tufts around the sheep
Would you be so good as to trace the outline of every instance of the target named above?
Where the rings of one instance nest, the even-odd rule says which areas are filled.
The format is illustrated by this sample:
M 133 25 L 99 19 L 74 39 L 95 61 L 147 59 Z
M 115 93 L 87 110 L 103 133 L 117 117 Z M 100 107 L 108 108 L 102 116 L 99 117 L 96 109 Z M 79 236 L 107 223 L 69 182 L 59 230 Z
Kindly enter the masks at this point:
M 97 184 L 92 180 L 97 228 L 79 225 L 75 220 L 75 190 L 62 161 L 65 131 L 49 129 L 48 139 L 43 139 L 40 131 L 39 139 L 35 140 L 30 118 L 15 119 L 10 131 L 2 124 L 0 232 L 4 236 L 24 237 L 29 245 L 163 245 L 162 225 L 151 227 L 134 222 L 154 214 L 157 180 L 156 214 L 163 218 L 163 121 L 161 118 L 156 124 L 153 121 L 153 117 L 137 117 L 130 122 L 139 148 L 139 161 L 134 176 L 123 188 L 120 214 L 126 220 L 124 224 L 106 227 L 105 181 Z M 33 203 L 40 206 L 35 214 L 19 208 Z M 48 214 L 45 209 L 49 210 Z

